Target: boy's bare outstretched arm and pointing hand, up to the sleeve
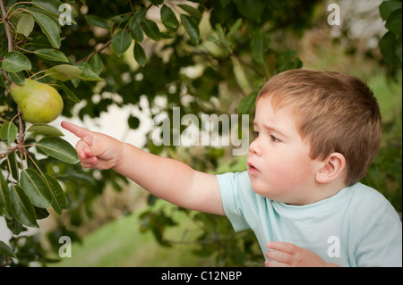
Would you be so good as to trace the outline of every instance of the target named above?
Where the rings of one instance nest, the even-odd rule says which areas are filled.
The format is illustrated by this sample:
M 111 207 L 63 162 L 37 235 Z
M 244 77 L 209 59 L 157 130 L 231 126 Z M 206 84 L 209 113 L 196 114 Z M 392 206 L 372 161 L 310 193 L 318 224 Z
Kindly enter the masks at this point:
M 76 150 L 84 168 L 110 169 L 133 180 L 151 194 L 195 211 L 222 214 L 219 181 L 176 160 L 152 155 L 107 135 L 71 122 L 65 130 L 81 138 Z

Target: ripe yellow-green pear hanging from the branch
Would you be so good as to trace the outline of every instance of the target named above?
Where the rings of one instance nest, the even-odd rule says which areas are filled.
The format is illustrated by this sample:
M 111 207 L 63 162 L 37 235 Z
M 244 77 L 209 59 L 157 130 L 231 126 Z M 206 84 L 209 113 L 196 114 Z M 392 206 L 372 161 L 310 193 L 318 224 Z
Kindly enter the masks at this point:
M 12 83 L 10 93 L 26 122 L 52 122 L 63 111 L 62 96 L 45 83 L 26 79 L 21 85 Z

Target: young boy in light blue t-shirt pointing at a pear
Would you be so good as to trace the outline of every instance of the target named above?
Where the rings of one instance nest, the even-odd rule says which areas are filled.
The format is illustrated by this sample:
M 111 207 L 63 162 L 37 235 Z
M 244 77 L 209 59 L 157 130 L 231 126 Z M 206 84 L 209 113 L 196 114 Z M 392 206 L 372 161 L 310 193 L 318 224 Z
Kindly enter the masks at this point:
M 251 228 L 266 266 L 402 266 L 399 215 L 357 182 L 377 154 L 372 91 L 336 72 L 279 73 L 256 100 L 247 172 L 212 175 L 62 122 L 85 168 L 123 174 L 173 204 Z

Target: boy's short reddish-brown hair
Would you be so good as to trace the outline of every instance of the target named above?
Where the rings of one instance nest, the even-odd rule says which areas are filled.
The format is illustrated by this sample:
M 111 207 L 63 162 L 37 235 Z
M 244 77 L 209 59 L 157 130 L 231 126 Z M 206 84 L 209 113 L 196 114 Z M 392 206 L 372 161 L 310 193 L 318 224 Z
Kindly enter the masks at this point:
M 347 186 L 373 163 L 381 146 L 382 118 L 363 81 L 332 71 L 284 71 L 266 82 L 256 102 L 262 96 L 270 96 L 275 110 L 291 107 L 312 159 L 324 160 L 333 152 L 345 156 Z

